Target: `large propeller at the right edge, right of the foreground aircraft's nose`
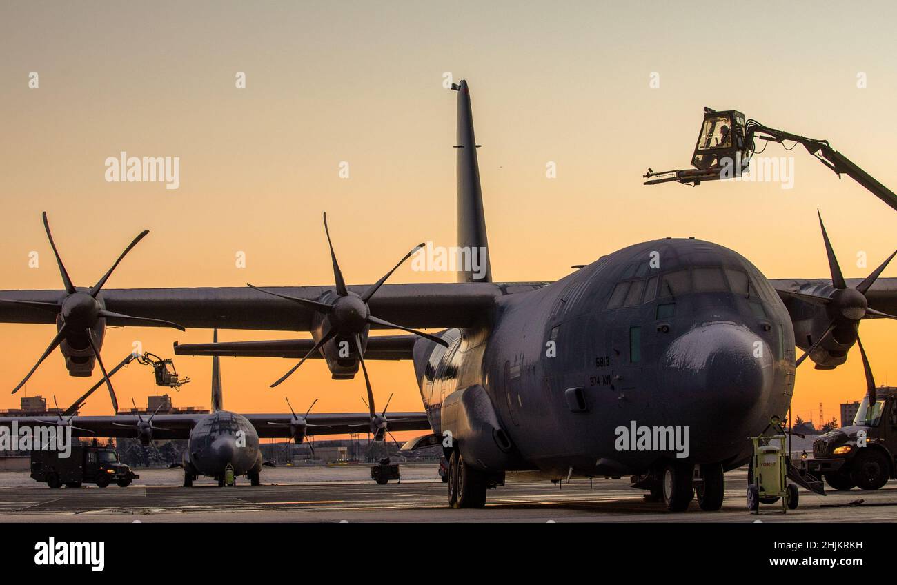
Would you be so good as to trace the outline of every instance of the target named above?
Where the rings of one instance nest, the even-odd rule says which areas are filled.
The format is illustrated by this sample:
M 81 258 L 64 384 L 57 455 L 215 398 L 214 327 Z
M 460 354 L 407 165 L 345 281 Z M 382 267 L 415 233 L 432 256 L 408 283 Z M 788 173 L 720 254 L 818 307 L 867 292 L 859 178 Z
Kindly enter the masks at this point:
M 838 258 L 835 257 L 834 249 L 832 249 L 832 242 L 829 240 L 829 234 L 825 231 L 823 215 L 820 214 L 818 210 L 816 211 L 816 214 L 819 215 L 819 226 L 823 230 L 825 253 L 829 258 L 829 271 L 832 273 L 832 286 L 834 287 L 835 291 L 834 293 L 832 293 L 832 296 L 828 297 L 822 297 L 807 293 L 788 293 L 789 296 L 800 299 L 801 301 L 806 301 L 818 306 L 825 307 L 830 319 L 828 326 L 825 327 L 823 335 L 819 336 L 814 344 L 811 345 L 810 348 L 797 359 L 797 362 L 795 362 L 795 366 L 799 366 L 806 360 L 806 358 L 810 354 L 813 354 L 816 348 L 823 344 L 823 341 L 825 341 L 829 336 L 832 336 L 832 332 L 836 328 L 852 327 L 854 333 L 857 336 L 857 343 L 860 346 L 861 354 L 864 358 L 864 364 L 867 367 L 868 363 L 865 361 L 866 353 L 862 351 L 863 345 L 859 341 L 859 321 L 861 319 L 872 318 L 897 319 L 897 317 L 884 313 L 880 310 L 869 308 L 869 301 L 867 299 L 866 293 L 872 286 L 872 284 L 875 283 L 875 280 L 878 278 L 878 276 L 882 274 L 884 268 L 891 262 L 892 258 L 897 255 L 897 251 L 886 258 L 881 266 L 875 268 L 875 270 L 872 271 L 872 274 L 868 275 L 860 284 L 857 284 L 856 288 L 848 288 L 847 282 L 844 280 L 844 275 L 842 275 L 840 266 L 838 265 Z M 871 375 L 871 371 L 867 367 L 867 380 L 871 380 Z

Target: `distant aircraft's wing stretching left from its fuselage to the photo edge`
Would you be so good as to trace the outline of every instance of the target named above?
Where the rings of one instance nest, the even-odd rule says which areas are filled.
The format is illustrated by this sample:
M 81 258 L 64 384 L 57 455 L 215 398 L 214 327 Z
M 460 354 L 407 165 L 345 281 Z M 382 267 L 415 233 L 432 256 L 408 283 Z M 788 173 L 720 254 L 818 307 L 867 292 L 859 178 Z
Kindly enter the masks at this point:
M 202 414 L 196 415 L 156 415 L 152 419 L 153 427 L 158 427 L 152 432 L 152 439 L 167 441 L 173 439 L 187 439 L 190 430 L 196 422 L 202 418 Z M 147 417 L 144 417 L 144 419 Z M 24 426 L 52 426 L 57 422 L 53 415 L 47 416 L 3 416 L 0 417 L 0 426 L 11 427 L 13 421 L 19 428 Z M 74 437 L 117 437 L 134 439 L 137 436 L 136 415 L 112 415 L 112 416 L 73 416 L 71 423 Z

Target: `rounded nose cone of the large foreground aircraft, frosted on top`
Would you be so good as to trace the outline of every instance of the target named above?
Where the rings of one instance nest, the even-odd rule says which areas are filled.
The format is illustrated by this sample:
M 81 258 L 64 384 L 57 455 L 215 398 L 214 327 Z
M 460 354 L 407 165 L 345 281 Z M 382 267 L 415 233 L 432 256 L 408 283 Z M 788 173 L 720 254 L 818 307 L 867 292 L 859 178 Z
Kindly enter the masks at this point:
M 768 421 L 774 380 L 772 350 L 761 336 L 735 323 L 694 327 L 668 346 L 660 380 L 666 410 L 690 427 L 692 455 L 705 460 L 746 441 Z

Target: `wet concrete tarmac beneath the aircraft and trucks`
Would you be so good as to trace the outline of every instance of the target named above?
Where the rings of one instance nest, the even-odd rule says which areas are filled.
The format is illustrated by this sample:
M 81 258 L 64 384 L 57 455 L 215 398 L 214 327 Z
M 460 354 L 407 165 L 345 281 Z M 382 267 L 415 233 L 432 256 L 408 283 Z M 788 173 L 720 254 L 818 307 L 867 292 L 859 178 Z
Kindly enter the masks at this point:
M 376 485 L 367 466 L 266 467 L 263 485 L 239 480 L 219 488 L 212 480 L 180 486 L 179 469 L 136 469 L 140 478 L 126 488 L 50 489 L 27 472 L 0 473 L 0 522 L 893 522 L 897 481 L 875 492 L 857 489 L 823 497 L 800 491 L 800 505 L 788 514 L 781 504 L 745 506 L 747 474 L 726 474 L 726 500 L 717 512 L 670 513 L 644 502 L 626 478 L 573 479 L 559 488 L 530 474 L 509 474 L 508 485 L 488 493 L 483 510 L 450 510 L 437 466 L 402 466 L 402 482 Z

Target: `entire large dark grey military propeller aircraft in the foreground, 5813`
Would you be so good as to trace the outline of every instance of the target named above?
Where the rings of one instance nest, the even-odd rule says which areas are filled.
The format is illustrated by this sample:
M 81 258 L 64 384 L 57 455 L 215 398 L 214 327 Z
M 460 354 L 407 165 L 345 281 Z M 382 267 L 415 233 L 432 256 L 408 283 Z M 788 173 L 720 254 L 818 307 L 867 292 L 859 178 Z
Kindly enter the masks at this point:
M 470 91 L 464 81 L 453 89 L 457 245 L 487 251 Z M 352 377 L 362 356 L 412 360 L 432 433 L 406 448 L 444 446 L 452 507 L 483 506 L 506 472 L 537 469 L 631 475 L 670 510 L 686 509 L 695 492 L 702 509 L 718 510 L 723 472 L 750 458 L 746 437 L 788 411 L 796 343 L 834 367 L 861 319 L 897 312 L 897 279 L 878 278 L 890 258 L 862 282 L 845 280 L 823 236 L 831 283 L 769 280 L 733 250 L 666 238 L 554 283 L 494 283 L 486 256 L 484 270 L 462 269 L 455 284 L 383 284 L 390 272 L 372 287 L 346 286 L 331 247 L 335 287 L 109 289 L 101 298 L 109 311 L 186 327 L 312 335 L 178 345 L 176 354 L 324 358 L 337 378 Z M 0 293 L 25 301 L 0 303 L 0 320 L 54 322 L 27 303 L 64 296 Z M 98 316 L 96 330 L 106 324 L 132 323 Z M 407 327 L 440 331 L 369 336 Z

